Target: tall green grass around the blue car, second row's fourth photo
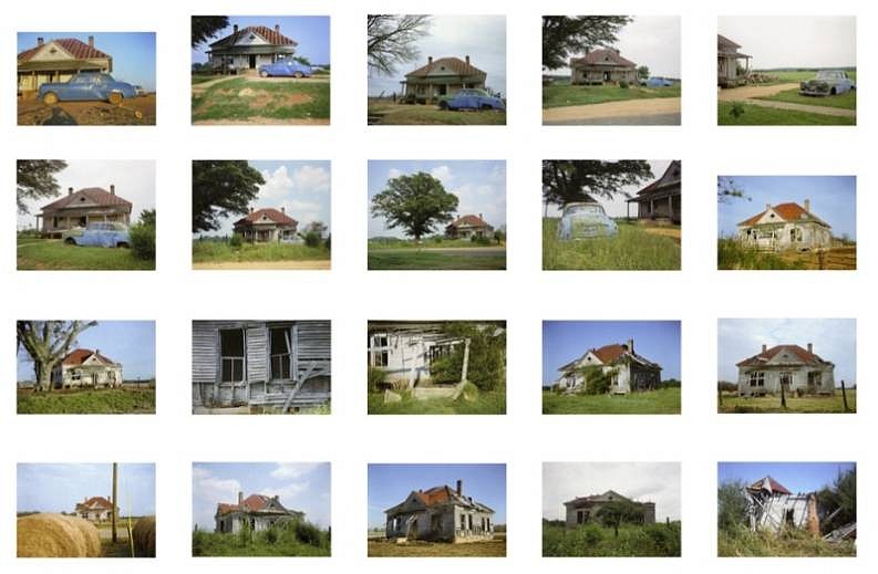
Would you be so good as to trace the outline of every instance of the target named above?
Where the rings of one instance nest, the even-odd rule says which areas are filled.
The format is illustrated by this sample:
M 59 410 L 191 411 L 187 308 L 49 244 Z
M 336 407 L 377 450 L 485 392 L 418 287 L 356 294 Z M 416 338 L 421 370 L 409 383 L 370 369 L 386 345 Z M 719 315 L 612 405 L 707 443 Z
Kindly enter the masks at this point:
M 680 244 L 638 225 L 617 221 L 619 234 L 562 241 L 558 219 L 543 219 L 544 270 L 679 270 Z

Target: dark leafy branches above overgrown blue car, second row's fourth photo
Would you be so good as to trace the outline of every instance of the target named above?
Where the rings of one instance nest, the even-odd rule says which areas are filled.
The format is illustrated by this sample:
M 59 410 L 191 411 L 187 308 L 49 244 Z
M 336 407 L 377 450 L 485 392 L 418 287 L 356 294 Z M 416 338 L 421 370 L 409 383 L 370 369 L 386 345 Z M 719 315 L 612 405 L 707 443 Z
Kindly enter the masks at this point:
M 643 159 L 605 161 L 601 159 L 544 159 L 543 200 L 564 206 L 574 201 L 612 199 L 622 187 L 653 177 Z

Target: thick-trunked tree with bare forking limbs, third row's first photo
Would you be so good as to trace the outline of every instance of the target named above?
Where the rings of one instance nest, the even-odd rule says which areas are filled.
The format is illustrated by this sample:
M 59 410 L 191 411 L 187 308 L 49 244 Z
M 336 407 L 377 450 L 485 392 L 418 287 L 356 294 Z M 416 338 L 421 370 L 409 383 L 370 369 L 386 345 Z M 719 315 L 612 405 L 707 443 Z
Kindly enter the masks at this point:
M 52 389 L 52 371 L 76 343 L 76 337 L 96 321 L 18 321 L 16 336 L 33 362 L 37 390 Z

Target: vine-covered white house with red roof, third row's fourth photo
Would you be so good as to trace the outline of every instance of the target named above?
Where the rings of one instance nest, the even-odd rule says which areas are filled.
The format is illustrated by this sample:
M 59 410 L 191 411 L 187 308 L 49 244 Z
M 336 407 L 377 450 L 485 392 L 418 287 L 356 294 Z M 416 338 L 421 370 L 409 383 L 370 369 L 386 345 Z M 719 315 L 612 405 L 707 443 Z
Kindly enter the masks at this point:
M 634 340 L 590 348 L 570 363 L 558 368 L 558 387 L 565 393 L 587 390 L 591 371 L 610 377 L 609 393 L 624 395 L 649 390 L 661 385 L 661 366 L 634 352 Z

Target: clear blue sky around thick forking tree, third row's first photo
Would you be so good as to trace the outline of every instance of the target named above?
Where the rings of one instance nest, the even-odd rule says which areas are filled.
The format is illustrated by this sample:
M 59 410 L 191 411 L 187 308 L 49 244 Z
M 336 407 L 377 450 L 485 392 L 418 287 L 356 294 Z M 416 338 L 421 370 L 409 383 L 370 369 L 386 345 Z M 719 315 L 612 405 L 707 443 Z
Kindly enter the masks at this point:
M 100 349 L 122 363 L 125 380 L 155 377 L 154 321 L 99 321 L 83 331 L 73 348 Z M 18 380 L 33 380 L 33 363 L 24 348 L 18 354 Z

